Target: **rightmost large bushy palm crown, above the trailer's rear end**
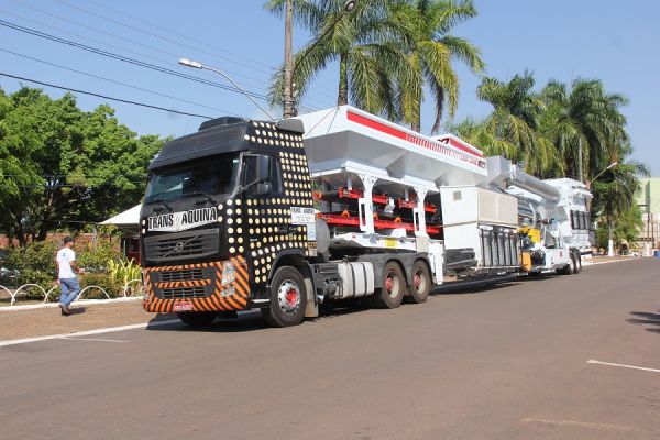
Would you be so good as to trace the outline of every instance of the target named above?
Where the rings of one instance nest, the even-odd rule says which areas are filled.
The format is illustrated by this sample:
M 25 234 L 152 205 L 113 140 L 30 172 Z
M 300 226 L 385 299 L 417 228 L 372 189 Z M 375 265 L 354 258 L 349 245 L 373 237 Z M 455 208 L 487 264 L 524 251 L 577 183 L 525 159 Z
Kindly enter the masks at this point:
M 548 82 L 541 99 L 547 111 L 539 131 L 559 148 L 569 176 L 588 180 L 618 160 L 628 141 L 626 118 L 619 111 L 627 103 L 624 96 L 605 92 L 601 80 L 579 78 L 571 88 Z

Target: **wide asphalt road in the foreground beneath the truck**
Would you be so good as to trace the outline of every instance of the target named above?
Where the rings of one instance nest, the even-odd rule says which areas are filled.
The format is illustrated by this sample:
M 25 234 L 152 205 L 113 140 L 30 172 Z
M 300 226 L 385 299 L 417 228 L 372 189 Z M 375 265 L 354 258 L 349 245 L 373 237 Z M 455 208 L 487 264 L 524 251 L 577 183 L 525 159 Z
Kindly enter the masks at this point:
M 0 438 L 658 439 L 659 310 L 637 260 L 290 329 L 3 346 Z

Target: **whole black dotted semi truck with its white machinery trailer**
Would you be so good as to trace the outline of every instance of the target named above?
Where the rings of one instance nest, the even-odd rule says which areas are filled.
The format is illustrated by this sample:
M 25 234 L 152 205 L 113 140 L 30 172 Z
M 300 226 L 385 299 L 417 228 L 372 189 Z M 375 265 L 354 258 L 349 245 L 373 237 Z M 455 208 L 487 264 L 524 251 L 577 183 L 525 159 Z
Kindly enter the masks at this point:
M 257 308 L 288 327 L 326 302 L 396 308 L 448 283 L 570 265 L 548 256 L 558 249 L 549 238 L 521 240 L 540 228 L 572 243 L 557 201 L 514 190 L 512 169 L 491 173 L 491 162 L 451 134 L 425 136 L 350 106 L 204 122 L 148 166 L 144 309 L 196 327 Z

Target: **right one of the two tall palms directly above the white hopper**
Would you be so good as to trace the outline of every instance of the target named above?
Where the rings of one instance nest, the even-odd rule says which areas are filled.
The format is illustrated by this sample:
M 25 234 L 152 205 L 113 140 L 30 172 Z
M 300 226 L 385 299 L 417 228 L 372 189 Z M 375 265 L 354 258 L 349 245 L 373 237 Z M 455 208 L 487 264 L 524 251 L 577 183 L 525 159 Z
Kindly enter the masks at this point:
M 408 68 L 397 78 L 402 119 L 420 131 L 426 85 L 433 95 L 431 131 L 437 132 L 446 107 L 451 120 L 459 102 L 459 78 L 452 61 L 462 61 L 475 74 L 484 69 L 480 50 L 465 38 L 450 35 L 457 24 L 476 16 L 476 10 L 472 0 L 414 0 L 395 3 L 391 11 L 391 29 L 407 46 Z

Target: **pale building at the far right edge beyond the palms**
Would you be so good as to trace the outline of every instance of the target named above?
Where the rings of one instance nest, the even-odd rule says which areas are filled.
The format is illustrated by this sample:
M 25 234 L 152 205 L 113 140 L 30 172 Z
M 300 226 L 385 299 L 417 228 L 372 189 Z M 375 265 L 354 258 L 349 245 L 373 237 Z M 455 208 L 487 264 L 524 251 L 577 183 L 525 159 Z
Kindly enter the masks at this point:
M 641 185 L 637 194 L 637 205 L 641 210 L 644 227 L 639 231 L 639 246 L 645 255 L 651 255 L 660 246 L 660 177 L 639 179 Z

